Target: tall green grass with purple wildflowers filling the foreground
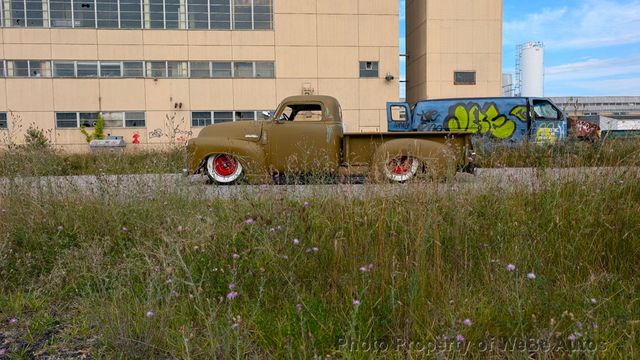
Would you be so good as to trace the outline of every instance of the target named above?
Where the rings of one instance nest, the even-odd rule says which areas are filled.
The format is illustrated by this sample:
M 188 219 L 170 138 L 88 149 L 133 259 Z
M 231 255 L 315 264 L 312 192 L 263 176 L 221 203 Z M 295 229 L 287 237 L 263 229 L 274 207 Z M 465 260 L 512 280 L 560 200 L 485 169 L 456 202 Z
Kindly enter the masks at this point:
M 536 191 L 411 184 L 393 196 L 263 189 L 207 200 L 12 185 L 0 198 L 0 348 L 186 359 L 637 354 L 637 174 L 539 181 Z

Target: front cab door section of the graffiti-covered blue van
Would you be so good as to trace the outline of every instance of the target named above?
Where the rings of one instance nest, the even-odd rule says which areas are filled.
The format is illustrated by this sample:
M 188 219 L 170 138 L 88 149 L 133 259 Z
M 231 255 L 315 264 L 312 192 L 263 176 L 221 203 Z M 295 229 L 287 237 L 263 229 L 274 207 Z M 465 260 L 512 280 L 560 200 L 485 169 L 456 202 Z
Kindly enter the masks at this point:
M 553 143 L 567 137 L 567 121 L 562 111 L 546 99 L 531 100 L 531 135 L 537 143 Z

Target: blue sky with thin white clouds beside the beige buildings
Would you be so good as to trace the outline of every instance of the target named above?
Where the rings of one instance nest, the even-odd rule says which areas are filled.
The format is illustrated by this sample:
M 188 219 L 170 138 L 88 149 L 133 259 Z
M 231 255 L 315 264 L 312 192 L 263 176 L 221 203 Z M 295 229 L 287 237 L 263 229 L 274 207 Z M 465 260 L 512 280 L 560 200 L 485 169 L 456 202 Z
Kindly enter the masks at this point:
M 518 44 L 545 44 L 545 96 L 640 96 L 640 0 L 504 0 L 503 21 L 504 73 Z

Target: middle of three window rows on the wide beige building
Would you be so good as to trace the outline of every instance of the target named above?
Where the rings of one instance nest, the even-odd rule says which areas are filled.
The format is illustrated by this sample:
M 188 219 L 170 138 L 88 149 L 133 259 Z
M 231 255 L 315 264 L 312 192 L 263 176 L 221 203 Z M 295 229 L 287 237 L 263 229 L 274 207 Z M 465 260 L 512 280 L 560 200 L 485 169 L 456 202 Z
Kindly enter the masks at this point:
M 274 78 L 273 61 L 0 60 L 10 77 Z

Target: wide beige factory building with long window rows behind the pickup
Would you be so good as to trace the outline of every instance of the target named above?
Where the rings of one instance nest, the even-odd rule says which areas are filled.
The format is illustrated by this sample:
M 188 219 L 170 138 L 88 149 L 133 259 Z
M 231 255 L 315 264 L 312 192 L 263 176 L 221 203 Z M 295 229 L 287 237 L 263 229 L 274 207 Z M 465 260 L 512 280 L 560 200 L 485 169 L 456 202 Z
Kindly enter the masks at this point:
M 0 0 L 0 132 L 88 149 L 98 114 L 127 144 L 256 120 L 285 97 L 338 98 L 385 131 L 399 96 L 397 0 Z M 8 139 L 8 140 L 7 140 Z

